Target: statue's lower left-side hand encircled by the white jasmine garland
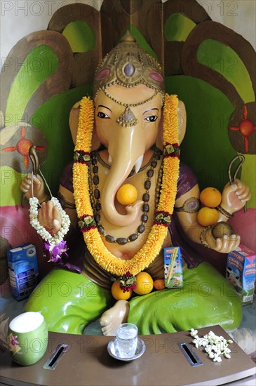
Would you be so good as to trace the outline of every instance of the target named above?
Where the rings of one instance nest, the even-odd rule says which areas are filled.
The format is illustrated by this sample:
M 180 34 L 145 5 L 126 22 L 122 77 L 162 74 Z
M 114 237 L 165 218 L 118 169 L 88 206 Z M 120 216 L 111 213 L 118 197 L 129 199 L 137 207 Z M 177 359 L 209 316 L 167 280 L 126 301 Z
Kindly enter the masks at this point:
M 60 211 L 52 201 L 43 202 L 38 213 L 39 222 L 46 230 L 54 236 L 61 227 Z

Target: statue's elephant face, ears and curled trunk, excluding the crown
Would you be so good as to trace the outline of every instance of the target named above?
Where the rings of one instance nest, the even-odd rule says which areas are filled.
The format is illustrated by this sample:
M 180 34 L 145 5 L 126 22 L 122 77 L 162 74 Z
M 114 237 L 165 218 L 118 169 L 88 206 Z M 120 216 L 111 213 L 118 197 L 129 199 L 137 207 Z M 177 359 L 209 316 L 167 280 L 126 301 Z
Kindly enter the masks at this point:
M 140 100 L 150 99 L 149 102 L 131 107 L 135 117 L 133 126 L 122 126 L 117 120 L 126 107 L 114 102 L 103 91 L 95 99 L 95 128 L 92 149 L 104 145 L 108 152 L 109 175 L 101 192 L 101 206 L 109 222 L 121 227 L 129 225 L 135 220 L 140 211 L 142 201 L 135 201 L 126 206 L 126 214 L 120 214 L 115 207 L 116 192 L 123 185 L 130 172 L 140 170 L 144 155 L 156 144 L 163 149 L 162 140 L 162 95 L 154 93 L 151 88 L 140 85 L 134 88 L 123 88 L 114 85 L 108 89 L 109 95 L 124 104 L 135 105 Z M 110 94 L 111 93 L 111 94 Z M 69 126 L 75 142 L 79 117 L 79 102 L 74 105 L 70 113 Z M 179 102 L 179 138 L 184 138 L 186 128 L 186 112 L 183 102 Z

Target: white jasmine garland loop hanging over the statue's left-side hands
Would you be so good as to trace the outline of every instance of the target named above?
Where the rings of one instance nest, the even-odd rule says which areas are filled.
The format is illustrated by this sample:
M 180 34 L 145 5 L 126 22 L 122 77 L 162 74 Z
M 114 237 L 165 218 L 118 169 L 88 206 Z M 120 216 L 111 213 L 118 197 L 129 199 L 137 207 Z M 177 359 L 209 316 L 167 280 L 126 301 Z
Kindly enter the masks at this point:
M 67 234 L 69 230 L 70 225 L 70 219 L 67 213 L 62 209 L 60 202 L 55 197 L 52 197 L 51 200 L 53 202 L 54 206 L 57 206 L 60 211 L 60 218 L 61 218 L 61 227 L 58 231 L 58 234 L 55 236 L 52 236 L 45 227 L 43 227 L 38 219 L 38 205 L 39 200 L 36 197 L 32 197 L 29 199 L 29 220 L 30 224 L 34 229 L 36 229 L 36 232 L 41 236 L 41 238 L 44 241 L 47 241 L 49 246 L 53 248 L 54 246 L 58 246 L 63 241 L 63 237 L 65 234 Z

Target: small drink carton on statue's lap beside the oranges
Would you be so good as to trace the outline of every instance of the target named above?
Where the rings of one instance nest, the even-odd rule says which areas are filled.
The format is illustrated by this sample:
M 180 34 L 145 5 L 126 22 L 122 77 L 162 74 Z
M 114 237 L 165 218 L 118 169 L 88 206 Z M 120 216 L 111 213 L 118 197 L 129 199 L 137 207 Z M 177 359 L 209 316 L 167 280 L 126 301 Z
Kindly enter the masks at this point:
M 182 253 L 179 246 L 163 248 L 164 279 L 167 288 L 183 287 Z

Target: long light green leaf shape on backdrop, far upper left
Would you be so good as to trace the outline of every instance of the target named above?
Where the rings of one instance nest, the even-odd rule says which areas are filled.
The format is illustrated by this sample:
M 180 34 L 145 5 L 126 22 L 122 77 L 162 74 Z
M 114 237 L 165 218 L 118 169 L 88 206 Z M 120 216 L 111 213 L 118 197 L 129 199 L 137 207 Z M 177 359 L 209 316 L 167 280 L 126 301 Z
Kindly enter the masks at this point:
M 51 74 L 58 68 L 58 57 L 46 44 L 36 46 L 29 52 L 13 80 L 6 103 L 8 124 L 22 119 L 27 103 Z

